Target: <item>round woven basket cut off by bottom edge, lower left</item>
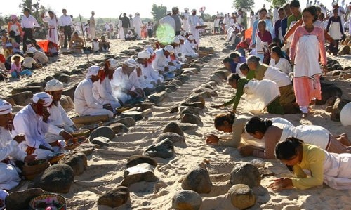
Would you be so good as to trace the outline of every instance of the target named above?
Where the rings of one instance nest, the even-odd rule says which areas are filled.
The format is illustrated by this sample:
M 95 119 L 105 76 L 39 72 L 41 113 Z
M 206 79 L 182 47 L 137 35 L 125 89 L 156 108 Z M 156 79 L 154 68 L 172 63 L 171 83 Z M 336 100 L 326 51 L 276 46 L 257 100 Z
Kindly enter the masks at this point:
M 45 193 L 34 197 L 29 202 L 29 208 L 32 210 L 45 210 L 50 206 L 58 210 L 66 210 L 65 197 L 55 193 Z

